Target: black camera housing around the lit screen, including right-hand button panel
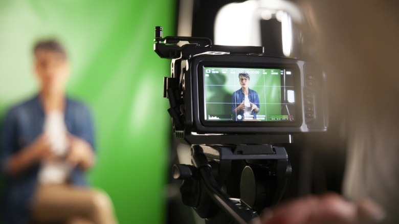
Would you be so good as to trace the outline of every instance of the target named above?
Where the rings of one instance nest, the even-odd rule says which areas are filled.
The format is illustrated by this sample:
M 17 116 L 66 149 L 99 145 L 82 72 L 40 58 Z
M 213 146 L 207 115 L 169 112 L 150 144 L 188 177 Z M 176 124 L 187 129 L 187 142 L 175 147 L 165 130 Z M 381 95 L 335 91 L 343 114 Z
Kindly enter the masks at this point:
M 210 121 L 205 117 L 204 68 L 280 68 L 293 71 L 295 119 L 289 121 Z M 204 139 L 225 135 L 252 135 L 269 143 L 270 135 L 325 131 L 328 126 L 325 76 L 319 66 L 292 58 L 263 55 L 208 53 L 190 57 L 181 68 L 180 86 L 184 103 L 184 138 Z M 238 77 L 237 77 L 238 79 Z M 182 82 L 183 85 L 182 85 Z M 213 137 L 215 138 L 215 137 Z M 253 139 L 253 138 L 251 138 Z M 240 138 L 243 141 L 243 138 Z M 200 141 L 201 142 L 201 141 Z M 224 143 L 223 140 L 220 141 Z

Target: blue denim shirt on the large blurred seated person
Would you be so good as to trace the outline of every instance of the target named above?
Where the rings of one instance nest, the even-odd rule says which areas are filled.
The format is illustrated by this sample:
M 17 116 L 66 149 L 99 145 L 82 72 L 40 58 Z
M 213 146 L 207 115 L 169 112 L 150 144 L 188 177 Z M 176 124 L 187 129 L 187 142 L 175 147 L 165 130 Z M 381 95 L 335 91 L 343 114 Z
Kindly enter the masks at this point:
M 84 139 L 94 149 L 90 111 L 82 103 L 69 98 L 65 102 L 64 121 L 68 132 Z M 1 173 L 5 181 L 1 216 L 5 223 L 27 223 L 29 220 L 40 164 L 11 175 L 6 162 L 11 155 L 30 145 L 41 135 L 44 120 L 45 113 L 38 96 L 12 107 L 5 117 L 0 145 Z M 83 171 L 78 167 L 72 170 L 69 181 L 73 185 L 86 185 Z

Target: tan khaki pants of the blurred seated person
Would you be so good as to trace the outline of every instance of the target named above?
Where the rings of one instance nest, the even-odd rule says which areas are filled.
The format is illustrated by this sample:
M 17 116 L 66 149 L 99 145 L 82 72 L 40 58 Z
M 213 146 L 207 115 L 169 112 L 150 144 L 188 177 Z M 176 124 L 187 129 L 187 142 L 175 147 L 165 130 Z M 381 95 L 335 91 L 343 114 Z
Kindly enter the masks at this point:
M 32 219 L 34 223 L 116 223 L 106 193 L 66 184 L 38 186 Z

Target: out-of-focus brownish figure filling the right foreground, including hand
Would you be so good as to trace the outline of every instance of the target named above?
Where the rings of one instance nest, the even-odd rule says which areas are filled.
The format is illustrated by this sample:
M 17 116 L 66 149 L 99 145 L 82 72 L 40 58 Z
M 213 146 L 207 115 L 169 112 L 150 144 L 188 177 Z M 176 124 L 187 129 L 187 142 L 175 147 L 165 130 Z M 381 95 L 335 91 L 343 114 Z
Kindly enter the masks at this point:
M 262 223 L 399 223 L 399 2 L 299 2 L 315 28 L 330 113 L 342 119 L 332 122 L 344 124 L 349 200 L 299 198 L 268 212 Z

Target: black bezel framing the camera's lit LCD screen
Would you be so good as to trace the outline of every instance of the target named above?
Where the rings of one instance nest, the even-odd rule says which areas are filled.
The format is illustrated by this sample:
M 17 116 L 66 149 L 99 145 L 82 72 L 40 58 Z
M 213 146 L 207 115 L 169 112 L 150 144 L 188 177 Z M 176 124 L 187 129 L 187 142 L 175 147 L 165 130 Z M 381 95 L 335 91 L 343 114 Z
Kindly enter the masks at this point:
M 272 133 L 293 132 L 303 125 L 302 84 L 303 71 L 295 61 L 255 55 L 201 55 L 191 63 L 193 125 L 199 133 Z M 295 120 L 282 121 L 216 121 L 205 119 L 204 68 L 289 69 L 293 71 Z M 200 94 L 202 93 L 202 94 Z M 195 102 L 196 101 L 196 102 Z

